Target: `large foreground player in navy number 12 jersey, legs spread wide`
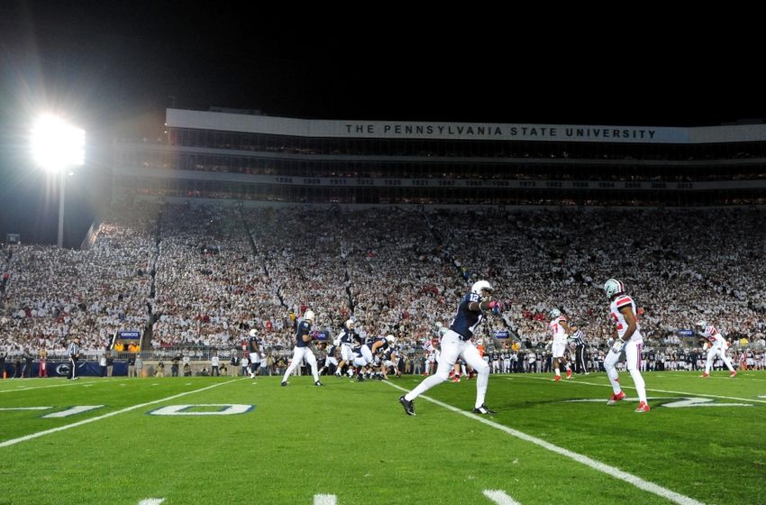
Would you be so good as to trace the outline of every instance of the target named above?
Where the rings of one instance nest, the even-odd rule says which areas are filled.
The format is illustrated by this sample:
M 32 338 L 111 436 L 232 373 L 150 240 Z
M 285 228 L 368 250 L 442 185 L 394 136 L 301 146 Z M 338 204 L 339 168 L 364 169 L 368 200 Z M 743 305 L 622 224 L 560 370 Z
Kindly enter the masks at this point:
M 497 316 L 503 311 L 502 303 L 489 299 L 491 294 L 492 286 L 487 280 L 479 280 L 471 286 L 470 293 L 458 306 L 458 312 L 452 319 L 450 329 L 442 336 L 442 357 L 436 373 L 399 398 L 399 403 L 405 408 L 407 415 L 415 416 L 413 400 L 436 384 L 446 381 L 452 367 L 461 356 L 479 374 L 476 381 L 476 403 L 473 412 L 485 415 L 495 413 L 484 403 L 489 381 L 489 365 L 481 358 L 476 345 L 470 341 L 486 311 L 491 310 Z

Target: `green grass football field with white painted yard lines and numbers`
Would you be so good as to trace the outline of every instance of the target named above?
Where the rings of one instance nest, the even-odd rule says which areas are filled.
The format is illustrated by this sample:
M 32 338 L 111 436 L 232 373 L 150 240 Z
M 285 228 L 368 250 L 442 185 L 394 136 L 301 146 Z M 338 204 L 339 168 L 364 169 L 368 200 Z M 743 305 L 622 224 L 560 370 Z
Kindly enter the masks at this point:
M 766 372 L 0 382 L 0 503 L 763 503 Z

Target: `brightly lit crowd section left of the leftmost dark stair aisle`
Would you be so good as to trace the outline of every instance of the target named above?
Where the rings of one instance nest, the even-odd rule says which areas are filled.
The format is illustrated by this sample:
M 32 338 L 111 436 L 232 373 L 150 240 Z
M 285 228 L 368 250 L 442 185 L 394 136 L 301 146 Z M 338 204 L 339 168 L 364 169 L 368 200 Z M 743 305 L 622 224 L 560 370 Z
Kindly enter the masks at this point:
M 118 329 L 148 321 L 151 228 L 147 207 L 106 216 L 85 251 L 48 245 L 4 247 L 7 276 L 0 298 L 0 342 L 8 353 L 45 347 L 65 355 L 74 335 L 83 349 L 101 351 Z

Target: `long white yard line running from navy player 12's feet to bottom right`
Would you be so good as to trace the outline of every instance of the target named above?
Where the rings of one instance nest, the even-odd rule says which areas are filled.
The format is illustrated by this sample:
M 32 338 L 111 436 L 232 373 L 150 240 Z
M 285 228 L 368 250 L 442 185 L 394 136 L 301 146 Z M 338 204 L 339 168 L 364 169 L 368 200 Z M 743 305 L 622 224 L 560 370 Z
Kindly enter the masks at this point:
M 392 384 L 388 381 L 386 383 L 392 388 L 396 388 L 397 390 L 407 391 L 405 388 L 397 386 L 396 384 Z M 495 421 L 491 421 L 488 418 L 477 416 L 476 414 L 473 414 L 472 412 L 468 412 L 466 410 L 461 410 L 456 407 L 452 407 L 451 405 L 447 403 L 443 403 L 442 401 L 439 401 L 438 399 L 429 398 L 427 396 L 419 396 L 418 399 L 426 399 L 442 407 L 443 409 L 448 409 L 457 414 L 461 414 L 465 416 L 466 418 L 474 419 L 476 421 L 479 421 L 479 423 L 487 425 L 488 427 L 494 427 L 495 429 L 503 431 L 510 436 L 515 436 L 516 438 L 524 440 L 524 442 L 530 442 L 534 445 L 539 445 L 543 447 L 543 449 L 547 449 L 551 451 L 552 453 L 560 454 L 580 464 L 585 464 L 586 466 L 589 466 L 590 468 L 597 470 L 598 472 L 606 473 L 607 475 L 614 477 L 616 479 L 619 479 L 620 481 L 633 484 L 635 487 L 637 487 L 640 490 L 651 492 L 666 500 L 670 500 L 673 503 L 679 503 L 679 505 L 702 505 L 701 501 L 694 500 L 693 498 L 689 498 L 688 496 L 680 494 L 676 491 L 670 491 L 669 489 L 663 488 L 662 486 L 657 485 L 654 482 L 644 481 L 641 477 L 638 477 L 632 473 L 623 472 L 622 470 L 620 470 L 619 468 L 616 468 L 615 466 L 601 463 L 600 461 L 590 458 L 584 454 L 578 454 L 578 453 L 570 451 L 569 449 L 564 449 L 563 447 L 559 447 L 558 445 L 553 445 L 550 442 L 546 442 L 542 438 L 537 438 L 536 436 L 527 435 L 524 432 L 518 431 L 512 427 L 506 427 L 505 425 L 501 425 L 499 423 L 496 423 Z

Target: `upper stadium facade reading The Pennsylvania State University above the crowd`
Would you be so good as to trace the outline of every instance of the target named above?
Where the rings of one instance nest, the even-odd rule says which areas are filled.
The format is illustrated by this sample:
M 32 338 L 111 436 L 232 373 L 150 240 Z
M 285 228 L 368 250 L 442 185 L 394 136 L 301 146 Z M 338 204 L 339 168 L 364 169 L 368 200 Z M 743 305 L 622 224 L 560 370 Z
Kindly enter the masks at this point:
M 766 203 L 766 124 L 695 128 L 307 120 L 168 109 L 114 143 L 114 198 L 247 204 Z

